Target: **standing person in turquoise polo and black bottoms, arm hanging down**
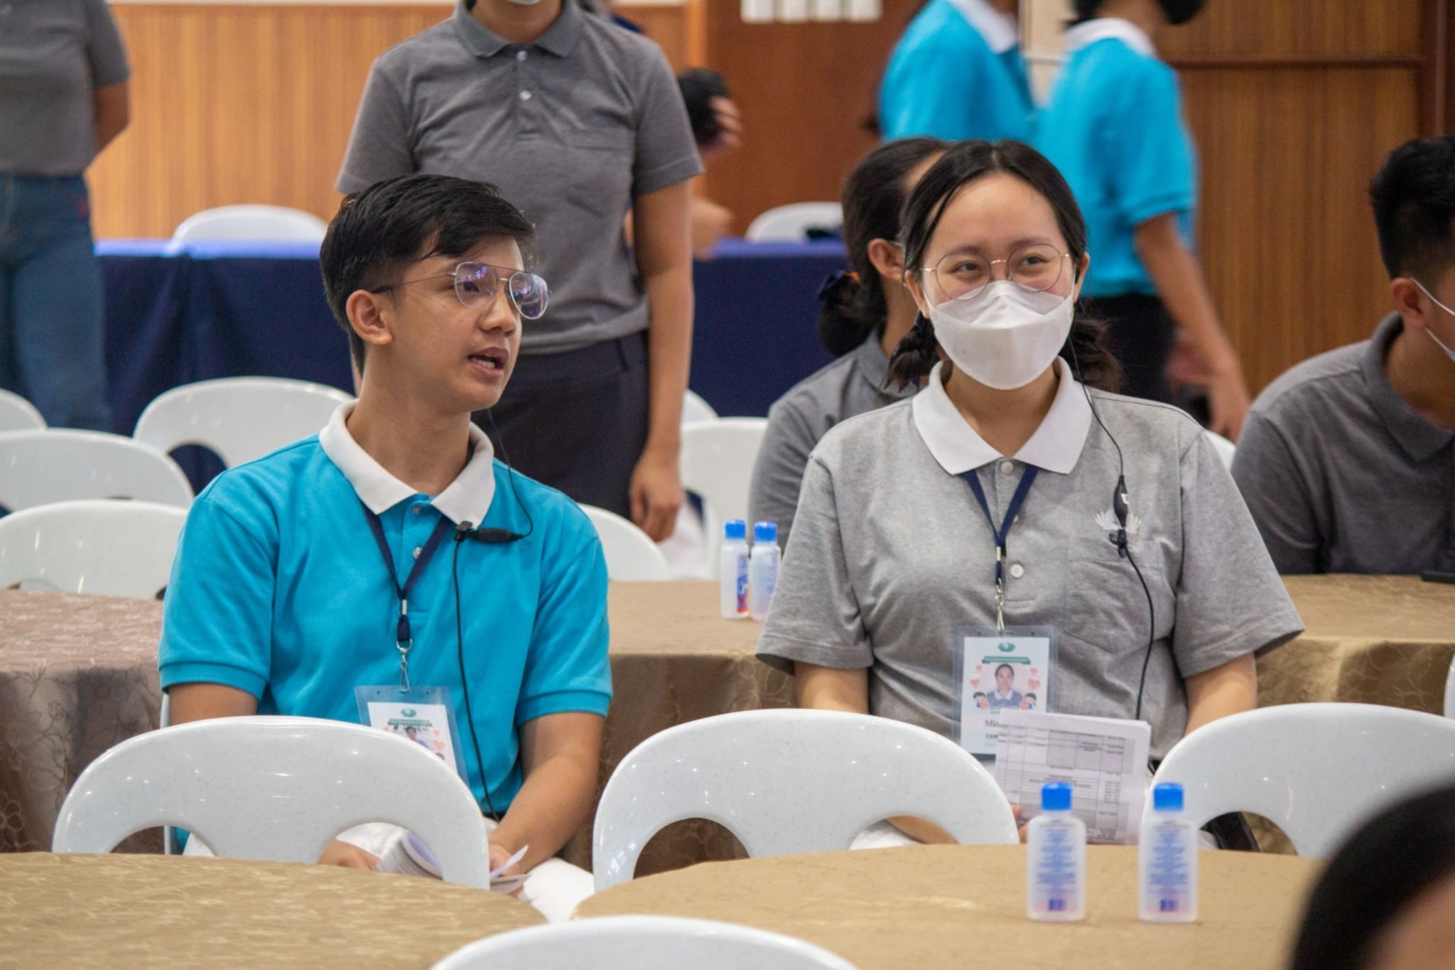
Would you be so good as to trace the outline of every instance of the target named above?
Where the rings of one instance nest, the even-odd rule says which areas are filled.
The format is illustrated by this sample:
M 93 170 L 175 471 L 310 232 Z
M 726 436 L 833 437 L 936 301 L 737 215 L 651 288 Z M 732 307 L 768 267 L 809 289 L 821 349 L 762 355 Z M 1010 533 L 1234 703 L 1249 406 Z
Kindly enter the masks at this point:
M 1189 22 L 1202 0 L 1075 0 L 1069 60 L 1036 129 L 1085 212 L 1091 265 L 1087 313 L 1107 323 L 1123 390 L 1171 401 L 1167 364 L 1181 330 L 1200 358 L 1209 428 L 1237 439 L 1248 409 L 1243 366 L 1228 343 L 1192 249 L 1197 173 L 1177 76 L 1154 41 Z

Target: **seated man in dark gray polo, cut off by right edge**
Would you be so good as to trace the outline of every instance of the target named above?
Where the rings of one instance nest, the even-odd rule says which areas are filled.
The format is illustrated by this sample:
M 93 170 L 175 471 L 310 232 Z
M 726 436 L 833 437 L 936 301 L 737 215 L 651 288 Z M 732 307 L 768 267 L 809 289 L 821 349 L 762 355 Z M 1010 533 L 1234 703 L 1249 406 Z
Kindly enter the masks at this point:
M 1455 135 L 1369 196 L 1394 313 L 1264 388 L 1232 460 L 1282 573 L 1455 572 Z

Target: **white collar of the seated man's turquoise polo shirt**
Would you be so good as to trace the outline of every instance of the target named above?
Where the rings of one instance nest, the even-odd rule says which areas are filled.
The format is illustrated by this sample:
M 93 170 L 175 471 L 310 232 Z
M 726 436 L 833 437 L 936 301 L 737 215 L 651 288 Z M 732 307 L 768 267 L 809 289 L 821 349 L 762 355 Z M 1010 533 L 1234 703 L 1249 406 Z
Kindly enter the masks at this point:
M 393 509 L 404 499 L 412 499 L 419 492 L 384 470 L 384 465 L 359 448 L 343 423 L 354 413 L 354 401 L 339 404 L 329 419 L 327 428 L 319 432 L 319 445 L 343 477 L 354 486 L 359 500 L 374 515 L 383 515 L 386 509 Z M 480 525 L 485 513 L 490 510 L 495 499 L 495 448 L 485 432 L 470 425 L 470 444 L 474 454 L 469 464 L 451 481 L 444 492 L 429 500 L 432 506 L 451 522 L 474 522 Z

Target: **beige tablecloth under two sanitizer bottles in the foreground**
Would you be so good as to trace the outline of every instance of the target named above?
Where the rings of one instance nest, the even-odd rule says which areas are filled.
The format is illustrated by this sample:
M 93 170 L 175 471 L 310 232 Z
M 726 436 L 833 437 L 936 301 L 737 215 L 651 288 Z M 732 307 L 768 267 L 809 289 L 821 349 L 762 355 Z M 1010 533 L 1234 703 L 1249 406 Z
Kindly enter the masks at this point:
M 576 918 L 659 913 L 797 937 L 861 970 L 1282 967 L 1320 862 L 1202 852 L 1199 919 L 1136 918 L 1136 849 L 1087 849 L 1087 919 L 1026 919 L 1020 845 L 915 846 L 711 862 L 623 883 Z

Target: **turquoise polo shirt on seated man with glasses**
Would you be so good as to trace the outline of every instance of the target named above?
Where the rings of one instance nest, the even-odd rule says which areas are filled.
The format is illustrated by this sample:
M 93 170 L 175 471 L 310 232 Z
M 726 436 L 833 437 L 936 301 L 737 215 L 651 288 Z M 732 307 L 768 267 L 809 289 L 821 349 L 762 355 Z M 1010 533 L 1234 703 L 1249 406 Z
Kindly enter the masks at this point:
M 447 537 L 409 601 L 410 682 L 447 686 L 470 788 L 485 807 L 466 723 L 451 560 L 458 551 L 464 670 L 483 777 L 505 811 L 521 788 L 519 727 L 563 711 L 607 713 L 607 566 L 591 521 L 524 476 L 509 483 L 489 439 L 432 500 L 388 474 L 345 428 L 218 476 L 182 531 L 162 624 L 162 686 L 247 691 L 259 714 L 358 723 L 358 685 L 397 685 L 399 596 L 365 505 L 381 519 L 400 582 L 441 516 L 530 532 L 486 545 Z M 518 497 L 517 497 L 518 496 Z M 522 508 L 524 506 L 524 508 Z M 527 519 L 534 521 L 531 526 Z

